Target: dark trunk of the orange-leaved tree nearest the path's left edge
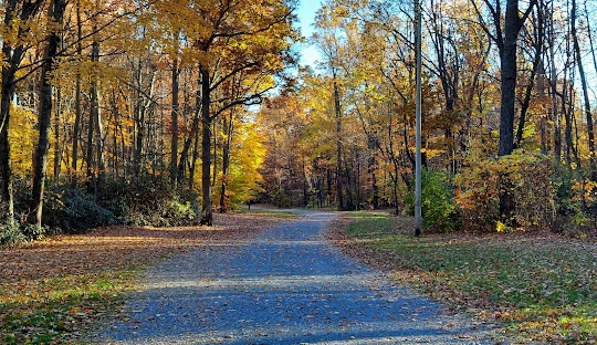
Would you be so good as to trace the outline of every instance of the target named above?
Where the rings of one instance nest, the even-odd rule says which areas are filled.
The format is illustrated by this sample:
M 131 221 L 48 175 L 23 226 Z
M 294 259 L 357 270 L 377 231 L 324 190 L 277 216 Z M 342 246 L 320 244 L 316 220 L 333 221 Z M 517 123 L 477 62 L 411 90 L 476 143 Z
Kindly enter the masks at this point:
M 211 194 L 211 103 L 210 75 L 207 66 L 200 66 L 201 73 L 201 220 L 200 224 L 211 227 L 213 224 L 213 206 Z

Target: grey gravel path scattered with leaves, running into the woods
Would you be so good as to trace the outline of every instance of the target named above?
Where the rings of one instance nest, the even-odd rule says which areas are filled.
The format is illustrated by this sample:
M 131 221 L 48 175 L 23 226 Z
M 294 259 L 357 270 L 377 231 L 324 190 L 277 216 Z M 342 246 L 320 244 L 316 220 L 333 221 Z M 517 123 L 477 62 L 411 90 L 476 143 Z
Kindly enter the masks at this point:
M 212 245 L 151 270 L 107 344 L 493 344 L 470 320 L 342 254 L 304 217 L 251 242 Z

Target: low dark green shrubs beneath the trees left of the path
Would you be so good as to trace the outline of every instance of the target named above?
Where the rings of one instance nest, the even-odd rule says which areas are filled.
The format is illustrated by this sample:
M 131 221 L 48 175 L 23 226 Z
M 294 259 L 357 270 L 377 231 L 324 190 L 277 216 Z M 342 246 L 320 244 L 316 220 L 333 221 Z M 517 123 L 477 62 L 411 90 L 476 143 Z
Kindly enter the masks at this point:
M 0 223 L 0 243 L 12 245 L 53 232 L 83 232 L 115 223 L 134 226 L 179 226 L 199 215 L 199 196 L 193 190 L 179 190 L 165 177 L 144 176 L 133 180 L 111 180 L 96 197 L 84 189 L 49 181 L 44 195 L 43 229 L 27 223 L 30 187 L 24 181 L 15 196 L 18 218 L 14 223 Z M 21 223 L 21 226 L 19 224 Z

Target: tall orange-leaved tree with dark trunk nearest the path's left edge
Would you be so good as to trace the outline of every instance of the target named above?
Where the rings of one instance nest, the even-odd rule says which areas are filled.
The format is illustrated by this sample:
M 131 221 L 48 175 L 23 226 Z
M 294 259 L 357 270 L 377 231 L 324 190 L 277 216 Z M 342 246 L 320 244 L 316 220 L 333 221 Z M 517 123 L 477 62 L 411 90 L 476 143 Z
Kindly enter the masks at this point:
M 219 6 L 193 11 L 205 28 L 192 40 L 202 53 L 199 59 L 201 88 L 201 224 L 213 223 L 211 187 L 211 125 L 222 112 L 237 105 L 261 102 L 271 83 L 253 83 L 238 98 L 212 98 L 214 92 L 234 75 L 271 75 L 283 67 L 292 38 L 292 8 L 286 1 L 218 1 Z M 292 6 L 293 3 L 290 2 Z M 264 82 L 264 81 L 263 81 Z M 268 85 L 269 84 L 269 85 Z M 268 85 L 268 86 L 265 86 Z

